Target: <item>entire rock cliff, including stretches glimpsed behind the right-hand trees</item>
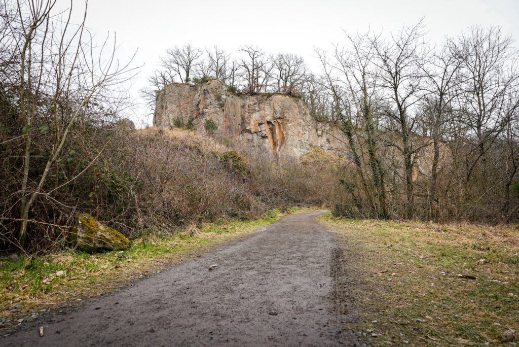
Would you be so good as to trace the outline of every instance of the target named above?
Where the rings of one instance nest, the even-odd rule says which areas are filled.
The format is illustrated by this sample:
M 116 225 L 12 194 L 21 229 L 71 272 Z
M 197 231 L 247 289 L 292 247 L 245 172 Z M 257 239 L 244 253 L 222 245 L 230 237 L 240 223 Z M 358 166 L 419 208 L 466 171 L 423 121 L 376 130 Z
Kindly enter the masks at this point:
M 352 163 L 344 132 L 333 124 L 317 122 L 302 100 L 284 94 L 238 96 L 227 92 L 225 85 L 217 79 L 197 85 L 172 83 L 158 95 L 153 124 L 167 128 L 175 126 L 175 119 L 176 123 L 191 124 L 200 136 L 223 135 L 270 153 L 274 159 L 299 159 L 312 147 L 319 147 Z M 217 125 L 216 130 L 206 129 L 208 119 Z M 391 133 L 386 135 L 386 143 L 401 145 L 399 137 L 388 136 Z M 434 155 L 430 138 L 415 135 L 413 140 L 423 146 L 414 156 L 413 179 L 420 175 L 430 177 Z M 362 147 L 359 153 L 367 156 L 365 145 L 357 142 L 356 146 Z M 404 177 L 403 158 L 395 146 L 385 145 L 379 149 L 379 154 L 384 167 L 396 167 L 395 174 Z M 365 157 L 364 163 L 367 160 Z M 450 162 L 450 154 L 442 144 L 439 169 Z

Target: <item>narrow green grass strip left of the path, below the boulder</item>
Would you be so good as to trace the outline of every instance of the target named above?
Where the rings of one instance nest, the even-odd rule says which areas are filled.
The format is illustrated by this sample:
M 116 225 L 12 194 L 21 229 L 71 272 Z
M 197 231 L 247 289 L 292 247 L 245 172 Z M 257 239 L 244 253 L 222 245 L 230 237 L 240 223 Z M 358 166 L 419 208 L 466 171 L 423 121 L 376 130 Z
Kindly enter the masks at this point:
M 292 209 L 289 213 L 299 211 Z M 248 235 L 286 213 L 252 221 L 208 223 L 176 235 L 144 233 L 125 251 L 89 255 L 76 251 L 0 259 L 0 330 L 42 311 L 95 297 L 134 279 Z

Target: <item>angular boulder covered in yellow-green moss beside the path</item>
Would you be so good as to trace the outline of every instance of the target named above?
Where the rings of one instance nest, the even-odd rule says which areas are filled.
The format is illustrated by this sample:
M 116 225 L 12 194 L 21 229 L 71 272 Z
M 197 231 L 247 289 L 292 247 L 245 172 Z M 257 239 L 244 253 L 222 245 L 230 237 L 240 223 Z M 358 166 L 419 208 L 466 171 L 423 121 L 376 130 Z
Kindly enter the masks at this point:
M 130 247 L 130 241 L 124 235 L 101 224 L 88 213 L 81 213 L 78 216 L 71 235 L 74 247 L 88 253 Z

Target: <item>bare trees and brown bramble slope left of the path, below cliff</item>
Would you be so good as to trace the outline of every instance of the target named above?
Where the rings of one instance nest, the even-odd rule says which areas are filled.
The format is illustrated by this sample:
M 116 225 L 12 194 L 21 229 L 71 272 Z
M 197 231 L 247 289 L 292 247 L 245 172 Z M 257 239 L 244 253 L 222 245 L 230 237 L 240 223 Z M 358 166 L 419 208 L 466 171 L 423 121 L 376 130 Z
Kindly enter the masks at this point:
M 119 121 L 132 70 L 115 58 L 115 42 L 94 44 L 69 15 L 52 1 L 0 4 L 3 252 L 66 247 L 81 212 L 131 237 L 340 194 L 331 178 L 330 190 L 309 194 L 326 158 L 281 167 L 187 130 Z

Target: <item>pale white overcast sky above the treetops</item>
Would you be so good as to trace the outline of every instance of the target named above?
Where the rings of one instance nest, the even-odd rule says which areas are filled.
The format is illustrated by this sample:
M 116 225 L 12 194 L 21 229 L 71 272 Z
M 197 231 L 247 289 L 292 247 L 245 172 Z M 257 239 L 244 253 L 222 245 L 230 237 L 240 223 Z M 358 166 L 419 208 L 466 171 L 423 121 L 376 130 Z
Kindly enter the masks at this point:
M 70 0 L 58 0 L 65 9 Z M 432 42 L 456 36 L 471 24 L 499 25 L 519 39 L 519 0 L 89 0 L 87 27 L 99 35 L 117 34 L 120 60 L 138 49 L 134 65 L 143 65 L 130 87 L 135 101 L 146 78 L 158 67 L 159 56 L 174 45 L 218 45 L 234 53 L 239 46 L 257 45 L 268 53 L 301 55 L 316 73 L 313 47 L 345 42 L 347 32 L 369 26 L 385 34 L 422 17 Z M 78 15 L 84 2 L 74 0 Z M 138 127 L 151 125 L 152 116 L 136 106 L 130 116 Z

